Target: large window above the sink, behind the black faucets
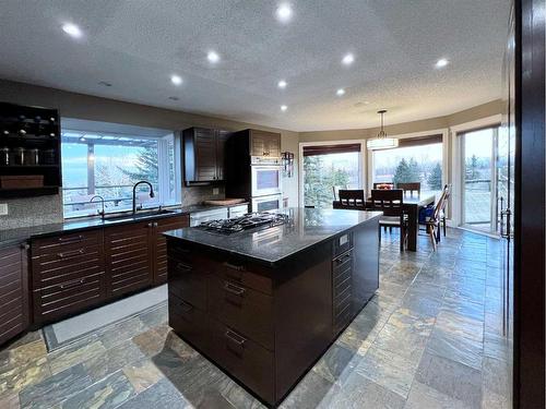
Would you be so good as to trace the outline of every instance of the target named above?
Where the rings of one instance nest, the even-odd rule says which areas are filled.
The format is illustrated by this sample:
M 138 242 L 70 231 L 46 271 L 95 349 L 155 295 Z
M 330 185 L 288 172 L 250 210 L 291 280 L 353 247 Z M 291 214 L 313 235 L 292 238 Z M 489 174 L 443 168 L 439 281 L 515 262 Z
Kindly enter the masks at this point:
M 100 200 L 106 214 L 132 209 L 132 190 L 140 180 L 150 181 L 136 190 L 136 205 L 158 207 L 180 203 L 179 144 L 173 132 L 104 122 L 63 120 L 61 130 L 62 205 L 64 218 L 96 215 Z M 179 145 L 178 145 L 179 146 Z

